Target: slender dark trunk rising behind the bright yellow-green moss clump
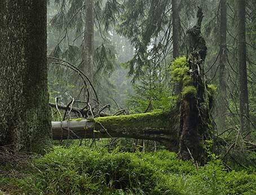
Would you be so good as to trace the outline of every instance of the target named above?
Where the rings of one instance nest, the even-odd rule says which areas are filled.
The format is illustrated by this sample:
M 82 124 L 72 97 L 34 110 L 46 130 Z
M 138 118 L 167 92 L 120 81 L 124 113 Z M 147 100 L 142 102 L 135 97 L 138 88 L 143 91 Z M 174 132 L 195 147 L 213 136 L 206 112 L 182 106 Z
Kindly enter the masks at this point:
M 173 58 L 179 57 L 179 33 L 180 20 L 178 11 L 178 0 L 171 0 L 173 17 Z

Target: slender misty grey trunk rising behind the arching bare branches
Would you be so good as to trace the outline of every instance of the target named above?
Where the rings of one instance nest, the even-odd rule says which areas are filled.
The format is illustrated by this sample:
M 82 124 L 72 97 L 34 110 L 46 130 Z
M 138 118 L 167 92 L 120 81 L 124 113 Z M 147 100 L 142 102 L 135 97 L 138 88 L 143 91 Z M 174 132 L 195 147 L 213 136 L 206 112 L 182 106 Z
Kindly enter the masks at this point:
M 85 0 L 85 34 L 82 43 L 82 64 L 86 76 L 94 83 L 94 0 Z M 92 97 L 92 90 L 89 89 Z

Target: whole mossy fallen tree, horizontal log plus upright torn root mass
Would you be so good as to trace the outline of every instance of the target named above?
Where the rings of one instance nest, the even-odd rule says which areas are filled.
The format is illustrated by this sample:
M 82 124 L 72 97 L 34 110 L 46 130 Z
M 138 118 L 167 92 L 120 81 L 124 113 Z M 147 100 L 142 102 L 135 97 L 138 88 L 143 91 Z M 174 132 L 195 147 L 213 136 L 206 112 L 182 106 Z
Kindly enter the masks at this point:
M 180 83 L 182 93 L 176 109 L 179 111 L 52 122 L 53 139 L 125 137 L 155 140 L 171 151 L 179 152 L 184 160 L 192 158 L 198 164 L 204 164 L 205 140 L 210 139 L 209 111 L 214 89 L 206 85 L 204 78 L 207 47 L 201 36 L 204 17 L 201 8 L 197 17 L 197 25 L 188 30 L 190 55 L 180 66 L 184 70 L 189 68 L 189 71 L 183 75 L 183 83 Z

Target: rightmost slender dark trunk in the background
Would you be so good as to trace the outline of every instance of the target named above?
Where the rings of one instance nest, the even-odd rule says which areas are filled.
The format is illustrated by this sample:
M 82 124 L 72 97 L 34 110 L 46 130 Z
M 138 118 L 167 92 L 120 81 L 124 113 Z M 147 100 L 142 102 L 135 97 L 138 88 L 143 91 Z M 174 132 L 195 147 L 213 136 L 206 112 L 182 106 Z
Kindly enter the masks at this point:
M 249 131 L 249 101 L 246 67 L 246 41 L 245 41 L 245 0 L 238 0 L 238 61 L 240 72 L 240 129 L 241 132 Z

